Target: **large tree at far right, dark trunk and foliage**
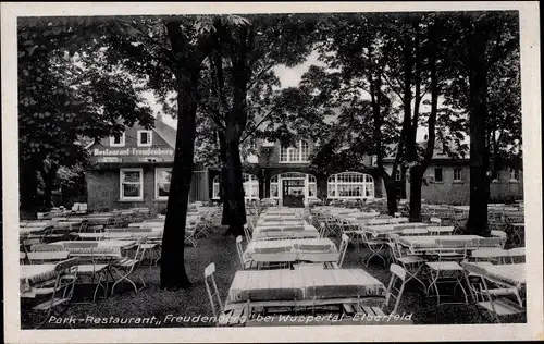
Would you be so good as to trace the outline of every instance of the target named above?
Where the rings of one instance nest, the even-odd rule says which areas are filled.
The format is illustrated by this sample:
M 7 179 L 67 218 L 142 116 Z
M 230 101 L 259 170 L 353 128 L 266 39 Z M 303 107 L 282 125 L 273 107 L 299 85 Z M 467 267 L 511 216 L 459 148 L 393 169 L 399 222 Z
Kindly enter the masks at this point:
M 493 145 L 493 140 L 497 138 L 498 124 L 498 121 L 490 118 L 490 100 L 495 108 L 498 106 L 494 95 L 497 90 L 490 89 L 493 85 L 490 81 L 494 78 L 493 74 L 500 74 L 497 63 L 519 51 L 519 16 L 515 12 L 472 12 L 456 14 L 450 21 L 457 37 L 450 41 L 454 47 L 450 59 L 458 62 L 458 73 L 467 85 L 466 98 L 461 98 L 466 99 L 462 107 L 469 115 L 470 134 L 470 210 L 467 231 L 485 235 L 489 232 L 487 197 L 491 175 L 489 144 Z M 507 69 L 515 71 L 517 63 L 514 59 Z M 519 102 L 515 108 L 519 110 Z M 493 116 L 498 116 L 499 113 L 499 110 L 494 110 Z

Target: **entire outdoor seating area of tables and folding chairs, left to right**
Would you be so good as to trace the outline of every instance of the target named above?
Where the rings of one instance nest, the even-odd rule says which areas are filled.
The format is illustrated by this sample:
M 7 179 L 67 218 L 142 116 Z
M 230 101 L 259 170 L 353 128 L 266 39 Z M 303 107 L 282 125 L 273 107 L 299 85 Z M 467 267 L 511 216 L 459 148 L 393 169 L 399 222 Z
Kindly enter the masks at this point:
M 208 257 L 198 259 L 205 285 L 195 307 L 222 327 L 261 325 L 263 317 L 273 319 L 265 325 L 299 325 L 297 317 L 331 325 L 380 324 L 375 319 L 388 315 L 398 315 L 388 317 L 391 323 L 413 324 L 425 323 L 418 319 L 429 309 L 448 307 L 463 307 L 474 322 L 521 321 L 522 206 L 490 208 L 487 237 L 463 233 L 465 209 L 423 209 L 422 222 L 408 222 L 404 212 L 384 214 L 379 201 L 359 208 L 254 202 L 246 209 L 245 235 L 233 243 L 220 234 L 220 206 L 191 205 L 187 254 Z M 22 221 L 23 323 L 40 328 L 58 312 L 160 293 L 164 219 L 127 209 Z M 220 250 L 226 250 L 223 261 L 213 259 Z M 424 300 L 428 309 L 411 309 L 407 299 Z

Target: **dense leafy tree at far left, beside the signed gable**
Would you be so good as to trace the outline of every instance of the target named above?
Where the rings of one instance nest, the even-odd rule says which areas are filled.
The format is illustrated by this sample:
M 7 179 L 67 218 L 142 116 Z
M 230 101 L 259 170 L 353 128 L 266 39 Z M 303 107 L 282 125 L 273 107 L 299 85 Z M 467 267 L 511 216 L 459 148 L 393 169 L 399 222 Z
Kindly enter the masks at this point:
M 82 62 L 83 56 L 98 56 L 95 49 L 108 26 L 102 19 L 85 16 L 18 22 L 23 210 L 50 207 L 59 168 L 85 163 L 87 152 L 78 144 L 81 137 L 98 139 L 120 133 L 136 121 L 151 123 L 150 110 L 129 79 Z

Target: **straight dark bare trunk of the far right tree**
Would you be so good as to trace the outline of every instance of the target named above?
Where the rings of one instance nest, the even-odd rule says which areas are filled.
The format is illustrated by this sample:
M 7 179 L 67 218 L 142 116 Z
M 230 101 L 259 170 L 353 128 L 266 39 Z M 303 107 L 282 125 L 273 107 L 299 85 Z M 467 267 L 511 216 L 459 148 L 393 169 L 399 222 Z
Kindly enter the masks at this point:
M 478 35 L 478 34 L 477 34 Z M 485 143 L 485 123 L 487 109 L 485 103 L 487 89 L 487 70 L 481 61 L 485 47 L 478 39 L 477 47 L 472 48 L 475 58 L 470 65 L 470 210 L 467 221 L 467 231 L 471 234 L 486 235 L 487 229 L 487 167 L 489 152 Z M 480 47 L 478 47 L 480 46 Z M 481 56 L 479 56 L 481 54 Z M 478 63 L 479 62 L 479 63 Z

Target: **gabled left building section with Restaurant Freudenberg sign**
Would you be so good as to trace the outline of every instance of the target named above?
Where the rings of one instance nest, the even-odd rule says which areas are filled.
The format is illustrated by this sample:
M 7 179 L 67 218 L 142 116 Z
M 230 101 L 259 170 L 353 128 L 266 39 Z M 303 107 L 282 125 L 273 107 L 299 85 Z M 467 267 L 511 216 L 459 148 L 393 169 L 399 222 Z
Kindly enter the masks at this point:
M 90 210 L 166 207 L 174 162 L 176 130 L 158 115 L 154 127 L 134 125 L 119 137 L 107 137 L 87 147 L 92 169 L 86 173 Z M 196 165 L 189 200 L 209 199 L 208 170 Z

